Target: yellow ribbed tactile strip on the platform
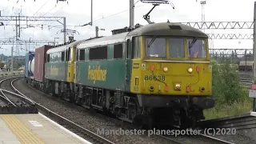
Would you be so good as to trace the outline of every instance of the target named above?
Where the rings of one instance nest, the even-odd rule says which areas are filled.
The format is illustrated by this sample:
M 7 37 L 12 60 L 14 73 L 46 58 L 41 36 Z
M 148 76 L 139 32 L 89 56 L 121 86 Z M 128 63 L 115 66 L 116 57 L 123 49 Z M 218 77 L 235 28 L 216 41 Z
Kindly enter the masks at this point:
M 37 134 L 34 134 L 32 130 L 29 130 L 23 122 L 21 122 L 13 114 L 1 115 L 3 121 L 9 126 L 10 130 L 18 137 L 19 141 L 24 144 L 44 144 L 41 138 Z

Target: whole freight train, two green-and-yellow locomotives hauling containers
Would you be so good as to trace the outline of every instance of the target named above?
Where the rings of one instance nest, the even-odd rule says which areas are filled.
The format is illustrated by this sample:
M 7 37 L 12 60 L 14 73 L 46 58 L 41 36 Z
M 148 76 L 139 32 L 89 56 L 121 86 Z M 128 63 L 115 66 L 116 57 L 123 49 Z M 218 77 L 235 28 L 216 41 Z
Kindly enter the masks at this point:
M 208 37 L 162 22 L 110 36 L 42 46 L 26 55 L 26 82 L 126 122 L 181 127 L 214 107 Z

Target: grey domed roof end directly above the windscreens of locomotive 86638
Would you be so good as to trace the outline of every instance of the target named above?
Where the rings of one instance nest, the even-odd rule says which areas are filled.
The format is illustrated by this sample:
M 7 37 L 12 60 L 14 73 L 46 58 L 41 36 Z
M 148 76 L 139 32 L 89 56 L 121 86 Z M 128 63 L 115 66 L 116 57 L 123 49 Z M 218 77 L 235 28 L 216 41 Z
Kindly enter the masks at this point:
M 162 35 L 208 38 L 207 34 L 192 26 L 186 26 L 178 22 L 161 22 L 138 27 L 130 31 L 128 35 Z

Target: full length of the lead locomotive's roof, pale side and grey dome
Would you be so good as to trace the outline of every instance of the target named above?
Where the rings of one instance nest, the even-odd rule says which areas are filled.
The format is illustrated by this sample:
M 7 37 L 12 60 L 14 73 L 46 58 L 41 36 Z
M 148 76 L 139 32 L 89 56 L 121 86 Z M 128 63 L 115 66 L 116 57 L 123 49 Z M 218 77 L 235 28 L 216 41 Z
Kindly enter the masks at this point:
M 86 40 L 78 44 L 78 49 L 84 49 L 87 47 L 92 48 L 94 46 L 106 46 L 108 44 L 125 42 L 126 36 L 130 35 L 158 35 L 174 37 L 208 38 L 207 34 L 191 26 L 186 26 L 184 24 L 174 22 L 162 22 L 141 26 L 130 32 Z

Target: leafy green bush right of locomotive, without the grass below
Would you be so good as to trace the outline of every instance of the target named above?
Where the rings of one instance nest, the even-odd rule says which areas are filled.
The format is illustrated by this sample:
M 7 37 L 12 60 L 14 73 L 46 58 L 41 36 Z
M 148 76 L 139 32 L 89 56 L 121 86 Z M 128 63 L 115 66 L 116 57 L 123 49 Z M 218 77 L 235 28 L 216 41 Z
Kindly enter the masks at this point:
M 243 102 L 248 99 L 248 90 L 240 84 L 239 74 L 229 62 L 213 64 L 213 97 L 217 105 Z

